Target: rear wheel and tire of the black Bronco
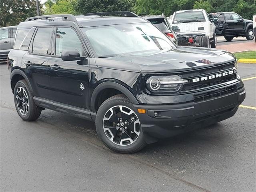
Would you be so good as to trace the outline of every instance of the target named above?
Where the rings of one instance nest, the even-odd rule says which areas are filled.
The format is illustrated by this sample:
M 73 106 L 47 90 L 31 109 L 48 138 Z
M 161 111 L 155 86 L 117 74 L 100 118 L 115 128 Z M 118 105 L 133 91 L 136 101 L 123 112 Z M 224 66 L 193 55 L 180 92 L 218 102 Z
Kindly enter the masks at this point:
M 14 87 L 14 103 L 19 116 L 24 121 L 36 120 L 41 111 L 33 100 L 32 92 L 26 80 L 20 80 Z

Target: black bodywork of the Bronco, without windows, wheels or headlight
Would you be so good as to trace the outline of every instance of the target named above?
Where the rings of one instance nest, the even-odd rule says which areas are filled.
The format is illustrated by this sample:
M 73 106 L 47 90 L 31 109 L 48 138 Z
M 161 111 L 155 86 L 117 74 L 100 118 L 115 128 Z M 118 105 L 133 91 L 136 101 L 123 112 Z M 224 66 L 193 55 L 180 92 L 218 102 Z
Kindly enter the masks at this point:
M 236 58 L 231 53 L 174 46 L 158 54 L 98 58 L 94 57 L 80 30 L 81 27 L 140 22 L 148 21 L 140 17 L 84 16 L 77 21 L 32 18 L 22 22 L 18 30 L 50 26 L 53 32 L 46 54 L 34 54 L 32 43 L 28 50 L 10 51 L 8 68 L 12 90 L 15 83 L 24 78 L 37 106 L 92 121 L 95 121 L 100 99 L 102 102 L 107 99 L 101 98 L 104 92 L 124 94 L 135 108 L 146 109 L 146 114 L 137 111 L 136 114 L 141 119 L 148 143 L 154 140 L 152 136 L 163 138 L 187 130 L 191 124 L 209 124 L 233 116 L 245 98 L 245 91 L 236 75 Z M 65 34 L 56 29 L 62 26 L 72 28 L 81 41 L 82 55 L 78 60 L 62 60 L 60 50 L 56 56 L 56 39 Z M 35 34 L 32 39 L 34 37 Z M 193 78 L 230 70 L 234 73 L 222 78 L 192 82 Z M 178 92 L 159 94 L 146 88 L 146 80 L 151 76 L 174 75 L 187 80 Z M 154 135 L 155 132 L 158 135 Z

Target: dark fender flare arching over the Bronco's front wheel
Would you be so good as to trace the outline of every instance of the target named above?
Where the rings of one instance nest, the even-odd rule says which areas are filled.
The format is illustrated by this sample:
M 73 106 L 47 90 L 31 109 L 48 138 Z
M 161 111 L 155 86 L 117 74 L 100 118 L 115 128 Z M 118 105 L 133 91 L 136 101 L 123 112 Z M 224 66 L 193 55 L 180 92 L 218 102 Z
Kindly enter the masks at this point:
M 126 87 L 122 86 L 121 84 L 118 84 L 116 82 L 102 82 L 94 89 L 92 93 L 91 102 L 90 102 L 92 111 L 96 111 L 95 103 L 96 103 L 96 98 L 98 94 L 106 88 L 116 89 L 122 92 L 126 97 L 128 97 L 130 102 L 132 102 L 133 104 L 139 104 L 135 96 Z

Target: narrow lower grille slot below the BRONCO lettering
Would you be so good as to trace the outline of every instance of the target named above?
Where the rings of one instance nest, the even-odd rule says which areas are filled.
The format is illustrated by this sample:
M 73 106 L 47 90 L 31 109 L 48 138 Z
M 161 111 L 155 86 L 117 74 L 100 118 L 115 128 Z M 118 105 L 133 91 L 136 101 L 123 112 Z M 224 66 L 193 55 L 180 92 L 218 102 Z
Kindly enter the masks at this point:
M 233 93 L 236 91 L 237 91 L 237 86 L 234 85 L 234 86 L 222 88 L 222 89 L 215 90 L 215 91 L 209 91 L 209 92 L 206 92 L 203 94 L 197 94 L 197 95 L 194 95 L 194 102 L 209 100 L 209 99 L 220 97 L 220 96 L 230 94 L 230 93 Z

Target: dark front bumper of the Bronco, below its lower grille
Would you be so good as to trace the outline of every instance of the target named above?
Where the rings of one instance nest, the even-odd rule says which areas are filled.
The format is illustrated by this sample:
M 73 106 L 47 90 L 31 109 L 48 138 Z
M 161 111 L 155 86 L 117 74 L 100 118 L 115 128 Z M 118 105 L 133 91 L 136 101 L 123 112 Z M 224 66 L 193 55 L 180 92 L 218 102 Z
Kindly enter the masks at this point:
M 244 99 L 243 87 L 232 94 L 202 102 L 134 107 L 146 109 L 146 114 L 138 114 L 145 135 L 152 138 L 167 138 L 232 117 Z

